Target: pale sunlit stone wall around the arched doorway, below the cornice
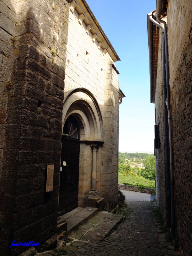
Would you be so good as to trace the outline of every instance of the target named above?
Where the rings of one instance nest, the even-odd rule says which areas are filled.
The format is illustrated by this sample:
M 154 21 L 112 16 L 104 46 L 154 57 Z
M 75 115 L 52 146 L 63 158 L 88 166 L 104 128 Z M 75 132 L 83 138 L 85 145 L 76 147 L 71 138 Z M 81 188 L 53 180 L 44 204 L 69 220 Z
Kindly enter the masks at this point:
M 80 101 L 74 104 L 74 107 L 64 103 L 63 125 L 66 113 L 67 115 L 70 113 L 84 115 L 92 132 L 88 137 L 87 134 L 81 134 L 81 139 L 84 137 L 89 140 L 103 138 L 104 144 L 97 151 L 96 186 L 100 196 L 104 197 L 106 208 L 111 211 L 118 204 L 118 74 L 111 65 L 113 60 L 109 53 L 104 53 L 97 39 L 93 40 L 91 30 L 86 31 L 86 28 L 84 20 L 79 22 L 79 13 L 76 9 L 69 12 L 64 94 L 67 95 L 74 88 L 85 88 L 91 92 L 99 106 L 104 130 L 100 134 L 96 129 L 92 129 L 89 123 L 90 113 Z M 81 92 L 78 95 L 81 100 L 87 102 L 86 104 L 91 104 L 88 95 L 86 98 Z M 98 120 L 94 123 L 98 124 Z M 80 146 L 79 174 L 79 206 L 85 206 L 91 189 L 92 150 L 90 145 L 84 143 Z

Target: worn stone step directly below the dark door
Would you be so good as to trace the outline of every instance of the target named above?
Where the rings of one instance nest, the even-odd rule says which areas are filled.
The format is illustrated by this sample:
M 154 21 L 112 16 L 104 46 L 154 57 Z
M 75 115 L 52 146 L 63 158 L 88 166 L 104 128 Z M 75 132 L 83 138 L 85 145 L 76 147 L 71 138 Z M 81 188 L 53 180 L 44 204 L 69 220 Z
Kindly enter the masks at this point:
M 88 210 L 92 209 L 92 210 Z M 77 207 L 71 212 L 68 212 L 57 219 L 57 234 L 67 231 L 68 234 L 76 227 L 92 218 L 98 212 L 97 208 L 92 207 Z

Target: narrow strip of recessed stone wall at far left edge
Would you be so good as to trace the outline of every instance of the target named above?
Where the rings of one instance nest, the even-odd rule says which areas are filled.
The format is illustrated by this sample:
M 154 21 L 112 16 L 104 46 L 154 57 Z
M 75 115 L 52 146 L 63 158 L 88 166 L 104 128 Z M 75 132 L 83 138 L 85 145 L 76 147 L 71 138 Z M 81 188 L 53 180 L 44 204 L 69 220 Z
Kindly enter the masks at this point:
M 12 88 L 11 71 L 13 65 L 13 50 L 15 44 L 15 29 L 17 22 L 17 3 L 15 1 L 3 1 L 0 12 L 0 251 L 2 255 L 7 255 L 9 241 L 11 240 L 11 230 L 13 226 L 13 209 L 9 172 L 4 170 L 4 163 L 8 161 L 5 150 L 7 150 L 7 108 L 10 90 Z M 14 188 L 12 188 L 14 190 Z

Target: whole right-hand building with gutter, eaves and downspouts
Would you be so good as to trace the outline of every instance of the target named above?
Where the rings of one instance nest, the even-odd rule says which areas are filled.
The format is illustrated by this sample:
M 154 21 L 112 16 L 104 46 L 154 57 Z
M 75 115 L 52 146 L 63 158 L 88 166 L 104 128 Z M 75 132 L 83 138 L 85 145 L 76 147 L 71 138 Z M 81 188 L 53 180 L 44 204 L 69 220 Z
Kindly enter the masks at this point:
M 187 256 L 192 253 L 191 12 L 191 1 L 169 0 L 157 1 L 156 10 L 148 14 L 157 204 Z

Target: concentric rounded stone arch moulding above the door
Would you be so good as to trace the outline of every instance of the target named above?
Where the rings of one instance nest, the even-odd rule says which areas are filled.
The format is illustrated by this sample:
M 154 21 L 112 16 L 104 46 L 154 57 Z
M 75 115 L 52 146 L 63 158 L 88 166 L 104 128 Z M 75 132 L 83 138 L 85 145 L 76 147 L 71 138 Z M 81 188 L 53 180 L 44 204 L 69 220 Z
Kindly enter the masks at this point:
M 66 94 L 63 103 L 63 126 L 68 116 L 74 115 L 80 126 L 80 141 L 103 143 L 102 115 L 94 95 L 85 88 L 76 88 Z

